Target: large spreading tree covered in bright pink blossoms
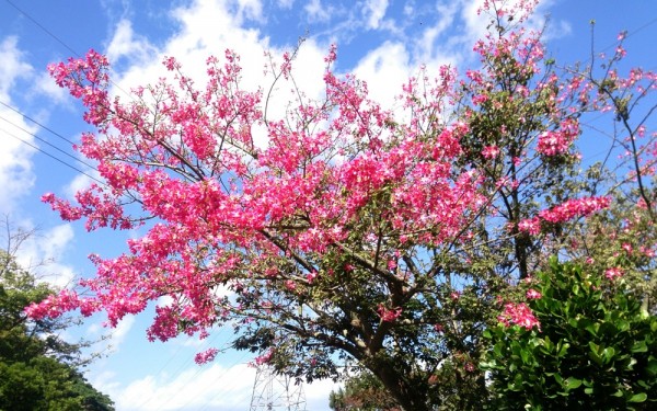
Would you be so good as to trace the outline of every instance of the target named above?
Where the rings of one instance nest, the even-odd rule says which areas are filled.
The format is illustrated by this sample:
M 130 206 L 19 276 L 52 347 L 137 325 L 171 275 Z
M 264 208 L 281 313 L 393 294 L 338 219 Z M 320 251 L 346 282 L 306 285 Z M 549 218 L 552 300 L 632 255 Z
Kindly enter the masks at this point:
M 498 316 L 539 327 L 514 283 L 611 201 L 586 189 L 575 142 L 581 114 L 619 107 L 545 59 L 540 33 L 522 28 L 534 3 L 485 2 L 481 67 L 422 71 L 394 113 L 332 71 L 335 49 L 324 98 L 300 94 L 281 118 L 243 88 L 233 52 L 208 58 L 204 88 L 166 58 L 173 80 L 128 101 L 110 95 L 95 52 L 50 66 L 96 128 L 77 148 L 105 184 L 44 201 L 89 230 L 145 235 L 118 258 L 92 255 L 94 277 L 30 315 L 104 311 L 113 327 L 169 296 L 150 340 L 232 327 L 256 363 L 312 380 L 353 361 L 406 410 L 485 391 L 483 329 Z M 277 81 L 291 79 L 292 56 L 270 67 Z M 483 398 L 457 397 L 461 409 Z

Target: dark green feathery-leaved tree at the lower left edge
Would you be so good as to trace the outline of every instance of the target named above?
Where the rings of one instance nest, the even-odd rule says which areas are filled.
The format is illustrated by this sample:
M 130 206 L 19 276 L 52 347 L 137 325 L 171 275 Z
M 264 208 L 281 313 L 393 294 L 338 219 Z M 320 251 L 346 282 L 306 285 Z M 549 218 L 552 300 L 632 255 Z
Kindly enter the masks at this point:
M 51 293 L 0 251 L 0 410 L 114 410 L 77 370 L 81 345 L 56 336 L 70 320 L 26 319 L 23 308 Z

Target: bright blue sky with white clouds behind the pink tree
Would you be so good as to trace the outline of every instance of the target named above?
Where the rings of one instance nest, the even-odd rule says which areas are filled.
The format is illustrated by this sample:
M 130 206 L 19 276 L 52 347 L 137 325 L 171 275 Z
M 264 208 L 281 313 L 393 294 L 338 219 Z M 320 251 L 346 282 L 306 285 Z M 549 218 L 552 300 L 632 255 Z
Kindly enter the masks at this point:
M 71 150 L 71 141 L 92 129 L 82 122 L 81 106 L 47 76 L 48 62 L 90 48 L 107 54 L 113 92 L 122 95 L 154 82 L 163 73 L 163 56 L 175 56 L 185 72 L 197 76 L 209 55 L 231 48 L 241 55 L 244 83 L 255 88 L 270 81 L 262 76 L 264 52 L 277 56 L 306 36 L 295 77 L 309 95 L 321 91 L 323 56 L 335 43 L 337 71 L 367 80 L 371 98 L 392 107 L 401 84 L 420 65 L 431 72 L 449 62 L 464 72 L 476 64 L 472 46 L 485 30 L 477 5 L 468 0 L 0 0 L 0 214 L 15 228 L 38 229 L 21 250 L 22 263 L 48 261 L 35 271 L 67 286 L 93 275 L 88 254 L 118 255 L 126 238 L 135 236 L 88 233 L 39 202 L 46 192 L 72 196 L 95 173 Z M 618 33 L 626 30 L 627 62 L 657 69 L 655 0 L 544 1 L 534 26 L 545 15 L 548 49 L 557 62 L 587 60 L 593 19 L 597 52 L 613 53 Z M 585 137 L 596 138 L 595 133 L 585 130 Z M 94 345 L 103 356 L 87 377 L 117 410 L 249 409 L 255 380 L 250 354 L 228 352 L 203 367 L 193 361 L 196 352 L 226 346 L 231 330 L 217 330 L 205 341 L 181 336 L 149 343 L 151 318 L 149 310 L 107 330 L 103 317 L 94 316 L 70 331 L 91 340 L 112 336 Z M 306 386 L 307 409 L 327 410 L 332 388 L 330 381 Z

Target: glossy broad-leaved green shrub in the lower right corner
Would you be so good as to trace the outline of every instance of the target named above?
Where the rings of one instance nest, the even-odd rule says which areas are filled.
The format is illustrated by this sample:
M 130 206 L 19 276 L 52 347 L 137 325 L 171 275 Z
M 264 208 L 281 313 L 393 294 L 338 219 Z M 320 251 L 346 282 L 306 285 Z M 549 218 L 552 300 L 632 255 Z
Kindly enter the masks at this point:
M 492 409 L 654 409 L 657 318 L 622 281 L 553 259 L 530 301 L 541 330 L 503 324 L 484 334 L 491 349 Z

